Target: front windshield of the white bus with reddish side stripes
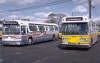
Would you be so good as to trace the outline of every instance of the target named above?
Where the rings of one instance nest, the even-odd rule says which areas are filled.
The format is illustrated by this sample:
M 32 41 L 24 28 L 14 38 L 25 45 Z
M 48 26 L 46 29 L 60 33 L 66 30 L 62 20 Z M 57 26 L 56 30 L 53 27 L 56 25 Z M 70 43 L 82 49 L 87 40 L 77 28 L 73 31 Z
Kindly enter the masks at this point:
M 4 25 L 3 26 L 3 34 L 20 34 L 20 26 L 19 25 Z

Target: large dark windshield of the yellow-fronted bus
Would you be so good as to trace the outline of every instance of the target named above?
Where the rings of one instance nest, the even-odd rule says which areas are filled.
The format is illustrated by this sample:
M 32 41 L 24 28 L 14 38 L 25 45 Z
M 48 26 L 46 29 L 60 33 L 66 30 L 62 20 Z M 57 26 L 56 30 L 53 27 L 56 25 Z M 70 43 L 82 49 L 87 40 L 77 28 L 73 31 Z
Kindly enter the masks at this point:
M 87 23 L 64 23 L 61 26 L 63 35 L 86 35 L 88 34 Z

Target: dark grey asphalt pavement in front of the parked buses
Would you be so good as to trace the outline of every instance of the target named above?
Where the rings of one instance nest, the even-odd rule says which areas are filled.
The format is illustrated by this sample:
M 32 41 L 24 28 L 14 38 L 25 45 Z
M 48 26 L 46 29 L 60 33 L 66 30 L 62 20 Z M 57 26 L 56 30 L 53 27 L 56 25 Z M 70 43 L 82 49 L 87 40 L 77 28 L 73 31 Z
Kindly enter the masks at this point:
M 90 49 L 60 47 L 60 39 L 34 45 L 1 46 L 1 63 L 100 63 L 100 38 Z

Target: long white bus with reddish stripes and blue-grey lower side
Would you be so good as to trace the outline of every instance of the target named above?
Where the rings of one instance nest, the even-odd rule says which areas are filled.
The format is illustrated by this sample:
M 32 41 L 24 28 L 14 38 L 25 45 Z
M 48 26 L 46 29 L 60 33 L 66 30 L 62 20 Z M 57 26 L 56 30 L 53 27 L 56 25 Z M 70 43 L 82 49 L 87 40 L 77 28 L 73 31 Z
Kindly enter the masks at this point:
M 32 21 L 5 21 L 3 23 L 2 45 L 25 45 L 56 40 L 59 27 L 53 23 Z

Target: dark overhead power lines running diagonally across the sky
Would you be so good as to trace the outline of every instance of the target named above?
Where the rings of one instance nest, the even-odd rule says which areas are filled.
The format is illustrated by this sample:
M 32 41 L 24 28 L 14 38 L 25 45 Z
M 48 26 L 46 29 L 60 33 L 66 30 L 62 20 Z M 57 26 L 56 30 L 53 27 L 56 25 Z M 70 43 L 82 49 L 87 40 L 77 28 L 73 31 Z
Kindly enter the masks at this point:
M 31 7 L 26 7 L 26 8 L 7 10 L 7 12 L 16 12 L 16 11 L 37 9 L 37 8 L 42 8 L 42 7 L 46 7 L 46 6 L 52 6 L 52 5 L 57 5 L 57 4 L 61 4 L 61 3 L 66 3 L 66 2 L 70 2 L 70 1 L 72 1 L 72 0 L 58 0 L 58 1 L 47 3 L 47 4 L 37 5 L 37 6 L 31 6 Z

